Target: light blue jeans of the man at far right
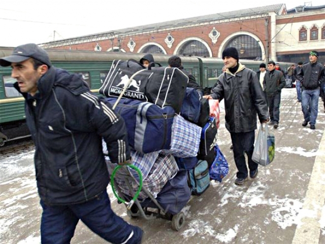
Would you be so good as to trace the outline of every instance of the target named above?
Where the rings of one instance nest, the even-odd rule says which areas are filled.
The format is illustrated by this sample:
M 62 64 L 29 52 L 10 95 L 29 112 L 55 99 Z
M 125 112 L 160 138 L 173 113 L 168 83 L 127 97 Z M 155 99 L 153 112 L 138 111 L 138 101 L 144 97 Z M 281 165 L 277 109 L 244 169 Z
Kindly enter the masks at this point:
M 301 107 L 304 114 L 304 120 L 309 121 L 310 125 L 315 125 L 318 115 L 319 88 L 314 90 L 302 91 Z

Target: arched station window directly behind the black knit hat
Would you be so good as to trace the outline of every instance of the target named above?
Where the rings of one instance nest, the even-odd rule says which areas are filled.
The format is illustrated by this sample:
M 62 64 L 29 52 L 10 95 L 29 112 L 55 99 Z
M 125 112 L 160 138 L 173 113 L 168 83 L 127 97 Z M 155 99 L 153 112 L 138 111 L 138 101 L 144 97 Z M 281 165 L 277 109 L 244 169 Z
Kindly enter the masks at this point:
M 239 58 L 262 60 L 261 47 L 254 38 L 248 35 L 234 37 L 226 47 L 235 47 Z

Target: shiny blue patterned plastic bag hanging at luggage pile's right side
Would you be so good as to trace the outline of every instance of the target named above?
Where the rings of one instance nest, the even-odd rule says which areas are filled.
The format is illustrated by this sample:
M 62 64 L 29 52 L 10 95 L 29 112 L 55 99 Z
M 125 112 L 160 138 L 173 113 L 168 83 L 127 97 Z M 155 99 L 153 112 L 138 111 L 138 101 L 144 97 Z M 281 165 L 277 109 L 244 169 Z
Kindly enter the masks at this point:
M 215 158 L 209 169 L 210 178 L 212 180 L 221 182 L 222 179 L 229 173 L 229 165 L 218 145 L 214 146 Z

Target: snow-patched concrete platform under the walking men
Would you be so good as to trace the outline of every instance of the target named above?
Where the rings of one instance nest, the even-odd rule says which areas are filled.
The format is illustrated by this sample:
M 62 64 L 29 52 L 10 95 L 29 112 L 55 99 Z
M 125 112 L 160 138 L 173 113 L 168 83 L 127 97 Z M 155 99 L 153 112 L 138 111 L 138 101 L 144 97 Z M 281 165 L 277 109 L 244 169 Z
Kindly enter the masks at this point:
M 180 231 L 163 219 L 130 219 L 117 204 L 113 210 L 146 232 L 144 243 L 325 243 L 325 113 L 319 99 L 316 129 L 302 127 L 296 90 L 283 89 L 275 160 L 259 166 L 258 177 L 236 186 L 230 134 L 224 127 L 223 102 L 218 145 L 228 159 L 229 175 L 212 182 L 184 207 Z M 257 133 L 257 131 L 256 131 Z M 0 158 L 0 240 L 6 244 L 40 243 L 41 206 L 36 189 L 33 152 Z M 73 244 L 107 243 L 79 223 Z

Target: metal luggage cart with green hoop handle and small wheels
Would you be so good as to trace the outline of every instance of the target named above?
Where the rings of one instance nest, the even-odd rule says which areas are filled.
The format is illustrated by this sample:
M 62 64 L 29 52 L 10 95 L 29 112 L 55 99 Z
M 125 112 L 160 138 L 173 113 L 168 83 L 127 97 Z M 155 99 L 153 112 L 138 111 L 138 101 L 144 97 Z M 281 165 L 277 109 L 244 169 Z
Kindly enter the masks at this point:
M 129 172 L 127 167 L 131 167 L 135 169 L 139 175 L 139 181 Z M 133 196 L 128 196 L 123 193 L 123 190 L 120 188 L 118 184 L 116 184 L 114 177 L 117 170 L 121 170 L 124 176 L 124 182 L 128 187 L 129 192 Z M 135 182 L 139 188 L 137 192 L 134 191 L 131 184 Z M 142 173 L 140 169 L 132 164 L 123 164 L 117 165 L 111 175 L 111 186 L 114 195 L 118 199 L 120 203 L 124 203 L 126 206 L 127 215 L 130 218 L 138 218 L 142 217 L 146 220 L 152 220 L 156 218 L 161 218 L 165 220 L 169 220 L 172 222 L 172 229 L 179 231 L 185 224 L 185 214 L 180 211 L 176 215 L 168 213 L 154 198 L 154 196 L 149 192 L 146 187 L 142 186 Z M 116 186 L 116 187 L 115 187 Z M 148 198 L 140 201 L 138 199 L 140 191 L 143 190 Z M 155 211 L 151 211 L 151 208 Z

